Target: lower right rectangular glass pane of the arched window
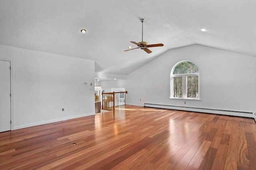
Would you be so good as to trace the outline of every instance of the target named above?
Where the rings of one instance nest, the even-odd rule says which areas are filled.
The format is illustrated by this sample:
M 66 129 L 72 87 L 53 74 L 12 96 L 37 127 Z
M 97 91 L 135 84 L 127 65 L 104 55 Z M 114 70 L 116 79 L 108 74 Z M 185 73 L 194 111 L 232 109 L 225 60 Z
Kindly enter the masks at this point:
M 187 76 L 187 98 L 198 98 L 198 76 Z

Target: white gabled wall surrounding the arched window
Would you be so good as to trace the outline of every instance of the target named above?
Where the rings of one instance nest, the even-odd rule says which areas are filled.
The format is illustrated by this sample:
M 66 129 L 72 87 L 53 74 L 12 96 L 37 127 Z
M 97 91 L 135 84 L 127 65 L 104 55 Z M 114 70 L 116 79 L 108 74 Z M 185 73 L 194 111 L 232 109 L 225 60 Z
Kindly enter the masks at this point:
M 201 101 L 170 99 L 170 72 L 183 60 L 199 67 Z M 256 112 L 254 56 L 192 45 L 164 53 L 129 74 L 127 81 L 127 103 L 132 105 L 150 103 Z

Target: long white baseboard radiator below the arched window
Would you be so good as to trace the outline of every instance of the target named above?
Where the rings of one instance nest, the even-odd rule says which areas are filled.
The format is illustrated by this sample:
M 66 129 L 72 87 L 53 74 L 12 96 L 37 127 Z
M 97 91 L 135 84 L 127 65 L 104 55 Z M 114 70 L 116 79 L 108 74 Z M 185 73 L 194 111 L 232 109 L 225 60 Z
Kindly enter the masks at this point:
M 174 109 L 174 110 L 184 110 L 184 111 L 196 111 L 196 112 L 203 112 L 203 113 L 214 113 L 214 114 L 221 114 L 221 115 L 252 117 L 256 121 L 256 113 L 251 113 L 251 112 L 206 109 L 206 108 L 185 107 L 185 106 L 170 106 L 170 105 L 149 104 L 149 103 L 144 103 L 144 107 L 155 107 L 155 108 L 162 108 L 162 109 Z

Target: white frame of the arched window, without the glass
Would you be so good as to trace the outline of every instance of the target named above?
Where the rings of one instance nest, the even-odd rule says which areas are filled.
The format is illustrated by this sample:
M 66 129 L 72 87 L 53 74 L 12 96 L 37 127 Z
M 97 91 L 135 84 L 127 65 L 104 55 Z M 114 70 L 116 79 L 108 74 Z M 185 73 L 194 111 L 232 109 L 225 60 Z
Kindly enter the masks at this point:
M 192 62 L 192 61 L 188 61 L 188 60 L 184 60 L 184 61 L 180 61 L 180 62 L 178 62 L 178 63 L 176 63 L 173 67 L 172 67 L 172 70 L 171 70 L 171 74 L 170 74 L 170 85 L 171 85 L 171 87 L 170 87 L 170 98 L 171 99 L 187 99 L 187 100 L 201 100 L 201 90 L 200 90 L 200 70 L 199 70 L 199 68 L 198 68 L 198 72 L 197 73 L 186 73 L 186 74 L 173 74 L 173 72 L 174 72 L 174 69 L 175 69 L 175 67 L 178 65 L 178 64 L 180 64 L 180 63 L 182 63 L 182 62 L 190 62 L 190 63 L 193 63 L 193 64 L 195 64 L 194 62 Z M 197 64 L 195 64 L 196 66 L 197 66 Z M 198 66 L 197 66 L 198 67 Z M 198 76 L 198 98 L 188 98 L 187 97 L 187 76 Z M 173 84 L 173 82 L 174 82 L 174 80 L 173 80 L 173 78 L 174 77 L 182 77 L 182 82 L 183 82 L 183 89 L 182 89 L 182 91 L 183 91 L 183 96 L 182 96 L 182 98 L 181 97 L 174 97 L 174 95 L 173 95 L 173 93 L 174 93 L 174 84 Z

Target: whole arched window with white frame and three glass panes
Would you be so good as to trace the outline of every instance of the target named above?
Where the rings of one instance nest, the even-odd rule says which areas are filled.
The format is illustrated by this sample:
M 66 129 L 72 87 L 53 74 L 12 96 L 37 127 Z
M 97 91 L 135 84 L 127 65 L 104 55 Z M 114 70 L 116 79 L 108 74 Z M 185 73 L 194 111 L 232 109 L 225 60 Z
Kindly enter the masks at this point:
M 199 70 L 196 64 L 182 61 L 172 68 L 171 98 L 200 99 Z

